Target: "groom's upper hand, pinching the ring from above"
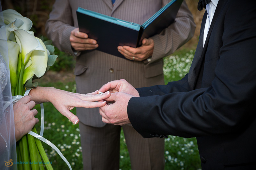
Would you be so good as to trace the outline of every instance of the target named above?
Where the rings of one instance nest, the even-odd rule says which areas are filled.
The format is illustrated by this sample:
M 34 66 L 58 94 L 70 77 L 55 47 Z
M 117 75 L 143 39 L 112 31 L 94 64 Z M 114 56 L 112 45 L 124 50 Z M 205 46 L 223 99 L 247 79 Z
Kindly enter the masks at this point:
M 140 97 L 139 92 L 126 80 L 115 80 L 103 85 L 98 92 L 124 92 L 135 97 Z

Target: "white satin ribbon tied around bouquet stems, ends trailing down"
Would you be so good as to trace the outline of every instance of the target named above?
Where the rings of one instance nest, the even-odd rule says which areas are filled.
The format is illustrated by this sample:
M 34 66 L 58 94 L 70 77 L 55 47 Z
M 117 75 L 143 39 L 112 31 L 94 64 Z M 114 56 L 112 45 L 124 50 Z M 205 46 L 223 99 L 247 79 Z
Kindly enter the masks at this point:
M 26 92 L 24 93 L 24 96 L 27 96 L 28 93 L 30 92 L 30 90 L 31 89 L 26 90 Z M 10 104 L 16 103 L 18 100 L 20 100 L 24 96 L 21 96 L 21 95 L 12 96 L 12 100 L 9 100 L 9 101 L 6 102 L 6 104 L 4 105 L 4 109 L 6 109 Z M 38 134 L 36 134 L 35 132 L 32 132 L 32 131 L 30 131 L 28 134 L 32 135 L 33 137 L 36 137 L 37 139 L 40 139 L 44 143 L 51 146 L 60 155 L 60 157 L 64 160 L 64 162 L 66 162 L 69 169 L 72 170 L 68 160 L 63 156 L 63 154 L 60 152 L 60 150 L 54 144 L 52 144 L 52 142 L 50 142 L 49 140 L 47 140 L 43 137 L 43 134 L 44 134 L 44 105 L 43 105 L 43 103 L 40 104 L 40 107 L 41 107 L 41 130 L 40 130 L 40 135 L 38 135 Z

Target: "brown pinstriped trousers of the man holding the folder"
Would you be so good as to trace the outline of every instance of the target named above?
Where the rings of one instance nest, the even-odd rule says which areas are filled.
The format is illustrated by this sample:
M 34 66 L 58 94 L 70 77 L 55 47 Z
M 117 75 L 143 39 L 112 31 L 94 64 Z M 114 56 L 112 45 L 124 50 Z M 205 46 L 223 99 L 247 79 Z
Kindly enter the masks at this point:
M 164 169 L 164 138 L 143 138 L 131 125 L 102 128 L 79 122 L 84 170 L 118 170 L 120 131 L 123 128 L 132 170 Z M 128 133 L 129 131 L 129 133 Z M 98 137 L 93 134 L 101 135 Z M 149 149 L 150 148 L 150 149 Z

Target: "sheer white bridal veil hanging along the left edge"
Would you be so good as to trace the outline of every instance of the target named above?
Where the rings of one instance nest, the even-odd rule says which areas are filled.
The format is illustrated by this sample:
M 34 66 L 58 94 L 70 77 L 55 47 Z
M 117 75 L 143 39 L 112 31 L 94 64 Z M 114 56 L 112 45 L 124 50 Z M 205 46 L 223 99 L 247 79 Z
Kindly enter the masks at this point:
M 0 26 L 4 26 L 2 6 L 0 2 Z M 0 32 L 1 33 L 1 32 Z M 1 37 L 1 36 L 0 36 Z M 6 37 L 2 35 L 2 37 Z M 6 56 L 7 55 L 7 56 Z M 9 76 L 7 42 L 6 48 L 0 49 L 0 169 L 17 169 L 15 129 L 12 104 L 4 108 L 12 99 Z

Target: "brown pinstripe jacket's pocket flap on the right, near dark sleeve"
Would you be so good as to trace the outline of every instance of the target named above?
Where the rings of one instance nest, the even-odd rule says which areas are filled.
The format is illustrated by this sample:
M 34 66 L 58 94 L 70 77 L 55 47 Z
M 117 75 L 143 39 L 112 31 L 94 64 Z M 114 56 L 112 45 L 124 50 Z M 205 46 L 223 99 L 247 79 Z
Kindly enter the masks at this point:
M 160 74 L 164 74 L 163 65 L 164 65 L 163 60 L 156 63 L 144 65 L 145 78 L 151 78 L 151 77 L 158 76 Z

